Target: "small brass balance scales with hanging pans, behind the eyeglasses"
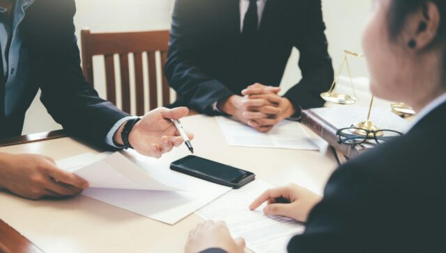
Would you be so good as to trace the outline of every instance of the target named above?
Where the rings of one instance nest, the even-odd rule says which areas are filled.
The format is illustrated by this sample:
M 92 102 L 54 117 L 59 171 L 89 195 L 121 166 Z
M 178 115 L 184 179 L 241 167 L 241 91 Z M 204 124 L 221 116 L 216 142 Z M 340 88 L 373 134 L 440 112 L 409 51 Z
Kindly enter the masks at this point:
M 321 94 L 321 97 L 328 102 L 332 102 L 335 104 L 344 104 L 344 105 L 351 105 L 355 104 L 357 101 L 356 97 L 356 91 L 355 91 L 355 85 L 353 85 L 353 78 L 351 76 L 351 69 L 350 65 L 348 64 L 348 56 L 355 57 L 355 58 L 362 58 L 364 55 L 353 53 L 352 51 L 344 50 L 344 60 L 342 60 L 341 66 L 339 67 L 339 70 L 337 70 L 336 75 L 334 76 L 333 83 L 330 87 L 330 90 L 328 92 L 323 92 Z M 339 82 L 339 78 L 341 77 L 342 71 L 344 70 L 344 67 L 347 67 L 348 70 L 348 78 L 350 79 L 351 88 L 353 90 L 353 96 L 352 95 L 346 95 L 346 94 L 339 94 L 337 92 L 334 92 L 334 87 L 336 83 Z M 367 120 L 363 120 L 362 122 L 357 122 L 354 124 L 351 124 L 352 133 L 358 134 L 360 136 L 366 136 L 367 131 L 378 131 L 380 130 L 379 127 L 371 122 L 370 115 L 371 115 L 371 108 L 374 104 L 374 96 L 371 96 L 370 106 L 369 106 L 369 112 L 367 113 Z M 391 105 L 392 111 L 394 113 L 397 113 L 397 115 L 403 116 L 403 115 L 413 115 L 415 112 L 413 111 L 410 106 L 407 106 L 403 103 L 393 103 Z M 367 131 L 364 131 L 364 130 Z M 373 137 L 373 133 L 370 133 L 371 137 Z M 383 135 L 383 132 L 378 132 L 376 135 Z

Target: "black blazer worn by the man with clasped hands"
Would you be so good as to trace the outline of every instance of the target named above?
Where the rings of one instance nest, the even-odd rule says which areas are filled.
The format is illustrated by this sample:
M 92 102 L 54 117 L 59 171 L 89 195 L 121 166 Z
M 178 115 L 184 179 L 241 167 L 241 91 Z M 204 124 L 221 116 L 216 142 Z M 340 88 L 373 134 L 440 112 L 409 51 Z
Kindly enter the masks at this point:
M 213 114 L 212 104 L 256 82 L 279 85 L 291 49 L 303 79 L 285 97 L 295 108 L 323 106 L 333 80 L 320 0 L 268 0 L 254 57 L 240 36 L 240 0 L 176 0 L 165 75 L 176 105 Z M 249 68 L 254 72 L 249 72 Z

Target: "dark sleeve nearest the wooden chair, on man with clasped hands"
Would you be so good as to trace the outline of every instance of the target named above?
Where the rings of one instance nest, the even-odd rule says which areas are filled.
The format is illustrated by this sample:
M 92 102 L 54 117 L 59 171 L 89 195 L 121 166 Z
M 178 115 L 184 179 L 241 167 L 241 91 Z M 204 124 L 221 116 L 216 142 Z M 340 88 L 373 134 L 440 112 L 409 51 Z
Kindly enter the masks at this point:
M 200 15 L 199 1 L 176 0 L 172 16 L 169 54 L 164 73 L 172 88 L 187 106 L 201 113 L 213 115 L 213 103 L 233 95 L 220 81 L 206 76 L 197 66 L 194 57 L 200 50 L 197 15 Z

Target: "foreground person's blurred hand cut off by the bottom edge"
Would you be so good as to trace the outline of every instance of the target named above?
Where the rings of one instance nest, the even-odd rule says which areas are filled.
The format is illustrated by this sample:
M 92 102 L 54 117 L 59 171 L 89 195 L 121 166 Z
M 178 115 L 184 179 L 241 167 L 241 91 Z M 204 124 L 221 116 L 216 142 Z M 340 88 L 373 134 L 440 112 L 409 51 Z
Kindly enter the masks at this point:
M 219 248 L 229 253 L 244 252 L 245 240 L 234 240 L 224 222 L 208 220 L 190 231 L 185 252 L 197 253 L 210 248 Z

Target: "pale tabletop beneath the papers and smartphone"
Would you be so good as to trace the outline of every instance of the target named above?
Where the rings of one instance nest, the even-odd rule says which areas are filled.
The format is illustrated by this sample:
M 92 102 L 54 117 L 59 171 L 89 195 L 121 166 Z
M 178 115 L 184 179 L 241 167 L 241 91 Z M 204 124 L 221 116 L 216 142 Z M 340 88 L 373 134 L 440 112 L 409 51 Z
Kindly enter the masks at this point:
M 231 147 L 213 117 L 186 117 L 183 125 L 195 134 L 197 156 L 252 171 L 273 186 L 298 183 L 322 193 L 337 168 L 331 149 L 322 152 Z M 34 153 L 61 159 L 100 152 L 72 138 L 11 147 L 0 152 Z M 161 160 L 186 156 L 181 146 Z M 201 219 L 190 215 L 176 225 L 144 218 L 82 195 L 60 201 L 31 201 L 0 192 L 0 219 L 45 252 L 182 252 L 190 229 Z

